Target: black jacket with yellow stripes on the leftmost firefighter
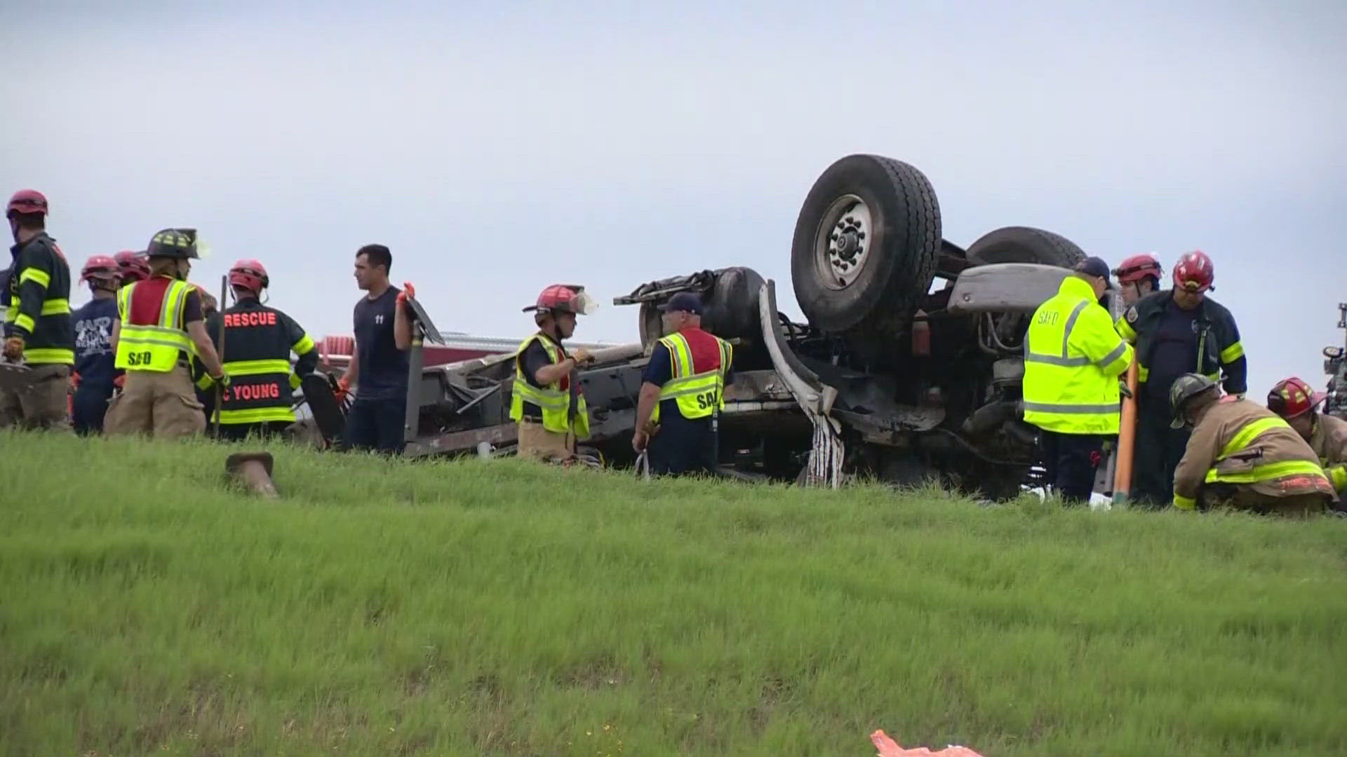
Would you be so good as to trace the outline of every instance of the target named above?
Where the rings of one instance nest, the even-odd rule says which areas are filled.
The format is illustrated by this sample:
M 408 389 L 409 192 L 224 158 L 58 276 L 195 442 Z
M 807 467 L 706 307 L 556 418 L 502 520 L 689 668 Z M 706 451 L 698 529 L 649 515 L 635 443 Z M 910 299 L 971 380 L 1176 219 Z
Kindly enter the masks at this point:
M 30 302 L 27 311 L 24 294 L 28 294 Z M 23 338 L 24 362 L 74 365 L 75 337 L 69 298 L 70 268 L 55 240 L 42 233 L 24 242 L 15 256 L 13 272 L 4 292 L 5 331 Z

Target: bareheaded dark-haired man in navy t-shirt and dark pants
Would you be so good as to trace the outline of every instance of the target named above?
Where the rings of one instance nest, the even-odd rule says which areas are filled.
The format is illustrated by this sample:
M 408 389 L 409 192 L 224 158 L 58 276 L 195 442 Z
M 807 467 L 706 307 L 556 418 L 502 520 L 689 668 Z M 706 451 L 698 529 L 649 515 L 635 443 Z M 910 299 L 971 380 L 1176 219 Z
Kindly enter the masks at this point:
M 403 451 L 412 329 L 401 290 L 388 282 L 392 263 L 384 245 L 365 245 L 356 253 L 356 283 L 368 294 L 356 303 L 356 354 L 338 381 L 342 392 L 356 387 L 342 434 L 350 450 Z

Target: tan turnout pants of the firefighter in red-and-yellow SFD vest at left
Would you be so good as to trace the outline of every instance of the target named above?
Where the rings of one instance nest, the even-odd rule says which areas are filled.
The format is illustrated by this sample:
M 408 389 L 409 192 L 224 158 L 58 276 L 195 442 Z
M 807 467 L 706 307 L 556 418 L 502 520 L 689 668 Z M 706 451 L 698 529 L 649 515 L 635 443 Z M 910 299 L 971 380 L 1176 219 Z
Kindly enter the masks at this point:
M 102 426 L 108 436 L 144 434 L 182 439 L 205 431 L 206 415 L 187 368 L 178 365 L 167 373 L 127 370 L 121 393 L 108 404 Z

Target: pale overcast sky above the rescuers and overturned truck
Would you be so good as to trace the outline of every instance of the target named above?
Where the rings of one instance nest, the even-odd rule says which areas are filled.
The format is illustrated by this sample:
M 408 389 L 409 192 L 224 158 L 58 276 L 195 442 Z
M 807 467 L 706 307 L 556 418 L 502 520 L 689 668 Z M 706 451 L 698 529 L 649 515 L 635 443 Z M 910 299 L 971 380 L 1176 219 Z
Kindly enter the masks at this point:
M 554 282 L 612 298 L 749 265 L 799 317 L 799 205 L 836 158 L 924 171 L 946 238 L 1061 233 L 1216 263 L 1250 391 L 1324 384 L 1347 300 L 1347 4 L 47 3 L 0 26 L 0 176 L 78 265 L 197 226 L 315 337 L 379 241 L 443 330 L 523 335 Z M 229 9 L 225 9 L 229 8 Z M 12 191 L 12 190 L 7 190 Z M 85 291 L 77 302 L 88 298 Z

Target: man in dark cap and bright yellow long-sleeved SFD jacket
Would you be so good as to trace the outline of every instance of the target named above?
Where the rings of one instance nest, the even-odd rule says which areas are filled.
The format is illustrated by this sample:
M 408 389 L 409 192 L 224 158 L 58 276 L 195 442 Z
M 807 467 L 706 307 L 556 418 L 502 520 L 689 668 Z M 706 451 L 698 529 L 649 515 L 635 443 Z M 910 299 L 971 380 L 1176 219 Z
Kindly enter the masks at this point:
M 1039 306 L 1025 334 L 1024 420 L 1040 430 L 1047 482 L 1088 502 L 1107 438 L 1118 434 L 1118 376 L 1133 349 L 1099 304 L 1109 265 L 1087 257 Z

